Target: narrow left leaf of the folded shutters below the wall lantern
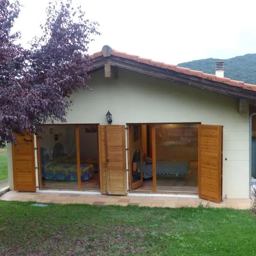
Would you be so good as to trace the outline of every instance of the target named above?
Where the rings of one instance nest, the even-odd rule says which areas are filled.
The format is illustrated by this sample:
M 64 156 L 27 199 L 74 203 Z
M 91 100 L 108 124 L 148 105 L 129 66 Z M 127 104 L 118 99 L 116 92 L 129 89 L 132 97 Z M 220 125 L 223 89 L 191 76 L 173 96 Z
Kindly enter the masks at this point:
M 107 194 L 106 125 L 98 126 L 98 135 L 99 135 L 100 189 L 101 189 L 102 194 Z

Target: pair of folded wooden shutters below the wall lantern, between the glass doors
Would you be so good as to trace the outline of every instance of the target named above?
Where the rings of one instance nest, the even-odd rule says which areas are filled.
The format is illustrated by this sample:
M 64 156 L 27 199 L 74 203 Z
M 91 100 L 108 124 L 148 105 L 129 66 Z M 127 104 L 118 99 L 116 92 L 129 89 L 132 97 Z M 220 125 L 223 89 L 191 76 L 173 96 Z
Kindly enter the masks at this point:
M 102 193 L 126 195 L 125 126 L 99 125 Z

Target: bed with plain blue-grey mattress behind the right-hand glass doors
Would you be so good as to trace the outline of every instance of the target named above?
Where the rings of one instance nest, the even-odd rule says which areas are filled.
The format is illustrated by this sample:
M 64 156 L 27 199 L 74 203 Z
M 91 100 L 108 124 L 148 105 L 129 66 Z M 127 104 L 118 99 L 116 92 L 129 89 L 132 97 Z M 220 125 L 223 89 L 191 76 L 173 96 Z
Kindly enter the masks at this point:
M 137 162 L 137 166 L 140 166 L 140 162 Z M 183 176 L 189 171 L 189 162 L 157 160 L 156 169 L 157 175 Z M 152 176 L 152 164 L 143 161 L 143 178 L 148 179 Z

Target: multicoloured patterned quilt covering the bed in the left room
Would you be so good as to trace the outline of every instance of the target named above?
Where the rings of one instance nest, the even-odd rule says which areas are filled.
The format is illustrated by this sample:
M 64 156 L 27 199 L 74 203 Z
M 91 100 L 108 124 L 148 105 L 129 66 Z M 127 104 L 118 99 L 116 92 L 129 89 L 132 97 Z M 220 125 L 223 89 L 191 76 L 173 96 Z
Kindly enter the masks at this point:
M 76 163 L 57 163 L 47 161 L 42 164 L 41 175 L 45 180 L 77 181 Z M 81 163 L 81 181 L 93 177 L 93 164 Z

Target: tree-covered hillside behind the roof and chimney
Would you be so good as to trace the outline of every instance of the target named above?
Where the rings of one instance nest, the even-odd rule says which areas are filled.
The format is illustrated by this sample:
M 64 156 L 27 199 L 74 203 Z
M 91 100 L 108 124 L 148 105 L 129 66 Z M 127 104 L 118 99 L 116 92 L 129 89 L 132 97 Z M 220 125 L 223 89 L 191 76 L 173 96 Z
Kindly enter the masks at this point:
M 198 61 L 189 61 L 178 64 L 192 70 L 200 70 L 204 73 L 215 74 L 215 62 L 224 61 L 224 76 L 233 80 L 256 84 L 256 54 L 246 54 L 230 59 L 207 58 Z

